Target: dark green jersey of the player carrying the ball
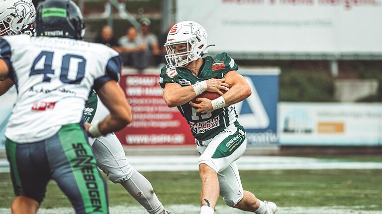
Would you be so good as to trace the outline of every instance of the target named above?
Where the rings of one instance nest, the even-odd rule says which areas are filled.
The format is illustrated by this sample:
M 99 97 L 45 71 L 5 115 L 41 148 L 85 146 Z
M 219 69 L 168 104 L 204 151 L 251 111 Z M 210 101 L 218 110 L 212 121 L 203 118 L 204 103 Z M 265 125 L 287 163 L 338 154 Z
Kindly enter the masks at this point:
M 206 56 L 198 76 L 194 76 L 186 68 L 163 67 L 161 69 L 159 83 L 162 88 L 166 83 L 178 83 L 181 86 L 193 85 L 197 82 L 211 78 L 222 79 L 226 73 L 238 70 L 239 67 L 227 53 L 217 54 L 214 57 Z M 192 135 L 198 141 L 210 139 L 227 126 L 234 123 L 238 117 L 235 106 L 227 106 L 213 110 L 210 113 L 196 112 L 196 109 L 189 103 L 178 106 L 178 110 L 190 125 Z

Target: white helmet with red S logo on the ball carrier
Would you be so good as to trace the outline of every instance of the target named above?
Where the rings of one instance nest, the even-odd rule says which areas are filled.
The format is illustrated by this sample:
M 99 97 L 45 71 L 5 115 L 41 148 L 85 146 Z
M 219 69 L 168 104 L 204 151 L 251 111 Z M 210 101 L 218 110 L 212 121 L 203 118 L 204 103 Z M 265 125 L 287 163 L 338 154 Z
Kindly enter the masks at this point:
M 182 21 L 175 24 L 165 43 L 167 68 L 184 67 L 206 54 L 209 46 L 212 45 L 207 45 L 207 32 L 198 23 Z

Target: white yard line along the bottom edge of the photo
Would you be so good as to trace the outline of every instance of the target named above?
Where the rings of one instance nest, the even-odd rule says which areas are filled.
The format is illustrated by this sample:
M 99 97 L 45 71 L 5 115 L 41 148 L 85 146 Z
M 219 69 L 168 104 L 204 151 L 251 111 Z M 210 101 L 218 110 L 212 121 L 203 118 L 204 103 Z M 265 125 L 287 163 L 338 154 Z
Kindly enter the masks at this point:
M 373 207 L 373 206 L 369 206 Z M 366 206 L 353 207 L 282 207 L 277 214 L 382 214 L 382 211 L 368 211 Z M 173 205 L 168 207 L 173 214 L 199 214 L 199 206 Z M 9 209 L 0 209 L 0 214 L 9 214 Z M 38 214 L 74 214 L 72 208 L 40 209 Z M 110 207 L 110 214 L 147 214 L 142 207 Z M 216 208 L 215 214 L 248 214 L 227 206 Z

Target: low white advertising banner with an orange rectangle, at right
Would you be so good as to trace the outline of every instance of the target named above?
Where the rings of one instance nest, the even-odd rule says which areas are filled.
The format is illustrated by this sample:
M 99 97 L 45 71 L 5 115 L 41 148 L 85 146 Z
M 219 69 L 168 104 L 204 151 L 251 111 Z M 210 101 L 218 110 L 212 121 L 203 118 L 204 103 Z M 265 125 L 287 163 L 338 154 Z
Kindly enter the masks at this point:
M 279 143 L 381 146 L 382 104 L 279 103 Z

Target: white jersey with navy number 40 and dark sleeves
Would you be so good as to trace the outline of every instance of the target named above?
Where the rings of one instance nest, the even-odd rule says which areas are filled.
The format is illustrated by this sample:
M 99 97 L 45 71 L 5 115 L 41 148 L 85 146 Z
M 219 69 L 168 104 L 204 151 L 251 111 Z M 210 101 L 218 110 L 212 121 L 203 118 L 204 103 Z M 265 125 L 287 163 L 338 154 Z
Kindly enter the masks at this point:
M 3 37 L 0 57 L 18 92 L 5 131 L 17 143 L 41 141 L 62 125 L 79 123 L 92 86 L 118 81 L 121 69 L 112 49 L 64 38 Z

